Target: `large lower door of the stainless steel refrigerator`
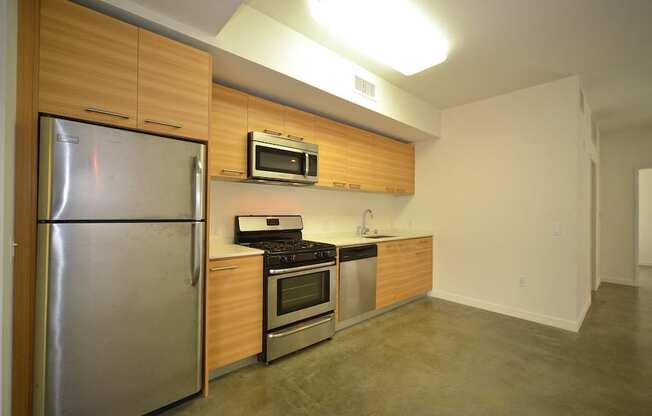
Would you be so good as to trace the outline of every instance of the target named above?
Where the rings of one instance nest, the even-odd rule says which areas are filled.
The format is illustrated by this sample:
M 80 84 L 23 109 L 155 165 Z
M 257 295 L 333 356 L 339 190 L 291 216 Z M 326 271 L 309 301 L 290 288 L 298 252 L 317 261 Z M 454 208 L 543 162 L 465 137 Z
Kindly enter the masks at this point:
M 39 224 L 35 414 L 140 415 L 201 389 L 203 233 Z

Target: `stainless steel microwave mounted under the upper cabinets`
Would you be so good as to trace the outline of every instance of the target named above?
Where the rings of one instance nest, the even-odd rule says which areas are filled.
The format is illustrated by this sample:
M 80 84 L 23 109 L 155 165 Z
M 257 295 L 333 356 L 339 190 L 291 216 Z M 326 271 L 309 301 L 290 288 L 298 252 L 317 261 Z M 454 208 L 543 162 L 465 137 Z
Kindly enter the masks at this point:
M 253 179 L 314 183 L 317 182 L 317 154 L 252 140 L 249 175 Z

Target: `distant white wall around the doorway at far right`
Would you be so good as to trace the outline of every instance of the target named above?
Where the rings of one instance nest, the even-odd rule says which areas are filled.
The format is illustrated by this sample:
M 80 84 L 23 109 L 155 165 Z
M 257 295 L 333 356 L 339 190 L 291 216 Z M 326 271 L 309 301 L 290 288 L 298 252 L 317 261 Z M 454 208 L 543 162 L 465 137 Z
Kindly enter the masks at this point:
M 652 168 L 652 126 L 603 134 L 600 165 L 600 279 L 633 285 L 636 172 Z

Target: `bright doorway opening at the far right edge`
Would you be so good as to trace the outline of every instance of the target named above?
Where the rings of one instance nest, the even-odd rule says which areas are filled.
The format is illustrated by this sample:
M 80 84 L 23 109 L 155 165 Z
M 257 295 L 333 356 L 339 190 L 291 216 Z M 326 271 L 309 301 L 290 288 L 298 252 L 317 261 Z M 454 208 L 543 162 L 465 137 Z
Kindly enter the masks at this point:
M 652 169 L 640 169 L 636 178 L 636 273 L 634 284 L 652 289 Z

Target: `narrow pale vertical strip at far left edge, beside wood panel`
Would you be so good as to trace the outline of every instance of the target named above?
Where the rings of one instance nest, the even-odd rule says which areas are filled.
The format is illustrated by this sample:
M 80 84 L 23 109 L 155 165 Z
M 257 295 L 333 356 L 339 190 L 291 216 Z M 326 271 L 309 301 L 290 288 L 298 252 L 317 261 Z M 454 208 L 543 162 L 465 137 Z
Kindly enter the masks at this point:
M 11 413 L 16 0 L 0 0 L 0 414 Z

